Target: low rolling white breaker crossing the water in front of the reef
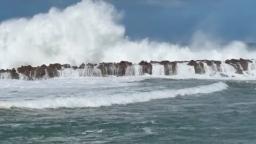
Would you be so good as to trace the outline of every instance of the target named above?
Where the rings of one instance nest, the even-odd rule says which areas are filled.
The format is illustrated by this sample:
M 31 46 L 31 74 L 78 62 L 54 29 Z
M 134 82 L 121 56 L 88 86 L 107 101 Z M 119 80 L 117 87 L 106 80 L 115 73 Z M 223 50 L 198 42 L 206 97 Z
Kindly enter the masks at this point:
M 101 95 L 84 97 L 59 97 L 59 98 L 42 98 L 36 100 L 19 100 L 19 101 L 1 101 L 1 108 L 76 108 L 76 107 L 100 107 L 111 105 L 125 105 L 134 102 L 146 102 L 153 99 L 174 98 L 179 95 L 193 95 L 213 93 L 227 89 L 228 85 L 223 82 L 217 82 L 209 85 L 189 87 L 178 90 L 150 91 L 140 93 L 123 93 L 115 95 Z

